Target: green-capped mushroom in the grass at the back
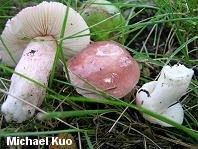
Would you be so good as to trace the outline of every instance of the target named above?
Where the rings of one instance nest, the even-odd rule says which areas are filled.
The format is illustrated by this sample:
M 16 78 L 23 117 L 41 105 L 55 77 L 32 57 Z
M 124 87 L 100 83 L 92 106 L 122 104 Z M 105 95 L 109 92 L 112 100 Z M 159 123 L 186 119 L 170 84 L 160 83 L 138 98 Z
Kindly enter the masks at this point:
M 125 35 L 121 39 L 121 36 L 118 36 L 121 34 L 120 31 L 107 31 L 125 25 L 125 19 L 118 8 L 107 0 L 94 0 L 94 2 L 88 0 L 88 2 L 81 6 L 80 11 L 82 11 L 81 16 L 91 27 L 90 32 L 93 33 L 91 39 L 93 41 L 104 41 L 114 38 L 118 42 L 124 41 L 127 36 Z

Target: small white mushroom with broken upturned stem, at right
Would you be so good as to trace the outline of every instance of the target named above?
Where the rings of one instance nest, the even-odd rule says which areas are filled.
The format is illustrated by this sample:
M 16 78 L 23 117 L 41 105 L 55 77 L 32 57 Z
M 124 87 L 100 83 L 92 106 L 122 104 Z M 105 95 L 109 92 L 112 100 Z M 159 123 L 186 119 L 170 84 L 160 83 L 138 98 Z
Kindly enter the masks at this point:
M 164 66 L 157 81 L 146 83 L 138 90 L 136 104 L 182 124 L 184 112 L 177 101 L 188 88 L 193 74 L 192 69 L 181 64 Z M 144 113 L 142 115 L 151 123 L 172 127 L 152 116 Z

